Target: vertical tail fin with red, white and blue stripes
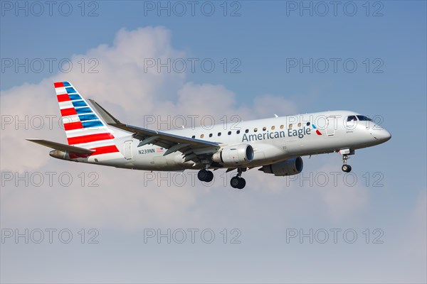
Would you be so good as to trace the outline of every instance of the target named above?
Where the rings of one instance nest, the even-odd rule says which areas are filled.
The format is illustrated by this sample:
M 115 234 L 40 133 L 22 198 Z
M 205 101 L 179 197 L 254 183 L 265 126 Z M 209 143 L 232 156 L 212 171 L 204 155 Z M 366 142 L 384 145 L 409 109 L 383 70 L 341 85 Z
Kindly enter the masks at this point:
M 69 82 L 54 83 L 68 145 L 95 151 L 119 152 L 112 131 Z

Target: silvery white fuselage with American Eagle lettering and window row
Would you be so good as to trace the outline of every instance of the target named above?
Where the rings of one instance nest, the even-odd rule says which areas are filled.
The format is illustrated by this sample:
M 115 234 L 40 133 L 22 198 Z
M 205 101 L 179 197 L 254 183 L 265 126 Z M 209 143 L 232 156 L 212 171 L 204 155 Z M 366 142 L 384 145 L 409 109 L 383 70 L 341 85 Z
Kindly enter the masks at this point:
M 269 165 L 302 155 L 332 153 L 342 149 L 355 150 L 389 140 L 390 133 L 372 121 L 347 121 L 347 117 L 352 115 L 358 114 L 353 111 L 324 111 L 164 132 L 217 142 L 221 147 L 250 144 L 254 157 L 246 167 Z M 133 138 L 132 134 L 127 135 L 120 131 L 115 133 L 115 137 L 115 144 L 120 153 L 75 160 L 137 170 L 185 170 L 204 167 L 191 160 L 184 162 L 179 151 L 164 155 L 167 149 L 156 145 L 138 147 L 140 141 Z M 236 168 L 236 165 L 225 165 L 223 168 Z

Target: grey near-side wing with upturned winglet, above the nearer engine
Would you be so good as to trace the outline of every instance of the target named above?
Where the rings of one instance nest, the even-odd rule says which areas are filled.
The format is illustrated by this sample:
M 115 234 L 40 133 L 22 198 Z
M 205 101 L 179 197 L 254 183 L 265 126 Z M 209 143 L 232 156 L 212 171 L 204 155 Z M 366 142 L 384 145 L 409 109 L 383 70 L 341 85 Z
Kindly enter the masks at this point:
M 167 151 L 163 155 L 169 155 L 170 153 L 180 151 L 184 154 L 184 159 L 186 161 L 194 160 L 195 162 L 199 162 L 199 160 L 206 158 L 206 155 L 210 156 L 221 148 L 216 142 L 199 140 L 123 124 L 101 107 L 100 104 L 95 102 L 95 100 L 89 99 L 89 101 L 93 104 L 93 107 L 95 107 L 102 119 L 104 119 L 105 123 L 110 126 L 117 127 L 118 129 L 134 133 L 134 138 L 137 138 L 140 141 L 138 147 L 146 144 L 154 144 L 167 148 Z

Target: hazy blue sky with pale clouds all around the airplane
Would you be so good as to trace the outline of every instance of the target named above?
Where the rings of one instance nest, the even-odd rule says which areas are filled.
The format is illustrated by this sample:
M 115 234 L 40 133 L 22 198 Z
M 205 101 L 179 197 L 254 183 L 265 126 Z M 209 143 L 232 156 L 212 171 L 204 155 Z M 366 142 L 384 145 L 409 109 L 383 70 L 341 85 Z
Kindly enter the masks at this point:
M 61 15 L 56 6 L 53 16 L 46 6 L 41 16 L 31 10 L 28 16 L 24 11 L 16 16 L 16 2 L 1 3 L 2 181 L 5 173 L 66 171 L 76 180 L 80 172 L 94 171 L 100 187 L 5 182 L 1 228 L 70 228 L 75 236 L 81 228 L 97 228 L 100 244 L 7 240 L 1 244 L 2 281 L 426 282 L 425 1 L 371 1 L 369 11 L 365 1 L 343 1 L 337 16 L 332 6 L 319 16 L 322 6 L 310 1 L 303 3 L 314 7 L 313 16 L 307 10 L 300 16 L 300 1 L 229 1 L 226 16 L 223 1 L 209 2 L 215 7 L 213 16 L 199 8 L 204 2 L 197 2 L 194 16 L 188 5 L 184 16 L 147 10 L 176 5 L 168 1 L 88 1 L 85 16 L 80 2 L 67 3 L 73 7 L 70 16 Z M 293 5 L 296 10 L 290 9 Z M 353 6 L 357 12 L 348 16 Z M 91 9 L 97 16 L 88 16 Z M 235 9 L 240 16 L 230 16 Z M 143 72 L 141 58 L 157 57 L 209 58 L 216 69 L 208 73 L 196 65 L 195 72 Z M 16 72 L 5 66 L 26 58 L 70 58 L 74 68 L 70 73 L 60 72 L 57 65 L 52 72 L 47 67 Z M 99 73 L 79 72 L 82 58 L 85 68 L 95 58 Z M 310 59 L 319 64 L 312 72 L 289 65 Z M 332 60 L 338 62 L 337 72 Z M 346 60 L 357 63 L 354 72 L 345 70 Z M 329 69 L 322 72 L 325 61 Z M 240 72 L 230 72 L 236 62 Z M 359 180 L 355 187 L 342 182 L 286 186 L 285 179 L 258 171 L 248 174 L 242 192 L 221 182 L 214 187 L 149 182 L 143 187 L 147 177 L 142 172 L 70 165 L 23 141 L 28 136 L 60 141 L 60 129 L 3 127 L 6 116 L 57 115 L 50 99 L 51 82 L 57 79 L 73 80 L 80 92 L 134 125 L 141 125 L 146 114 L 238 114 L 247 120 L 350 109 L 380 116 L 393 137 L 352 157 Z M 106 84 L 110 92 L 99 87 Z M 191 108 L 195 102 L 200 109 Z M 305 158 L 305 173 L 339 171 L 340 165 L 338 155 Z M 364 173 L 371 177 L 368 185 Z M 379 176 L 382 186 L 372 186 Z M 242 243 L 144 244 L 147 228 L 212 228 L 216 236 L 224 228 L 238 228 Z M 359 241 L 287 244 L 289 228 L 352 228 Z M 368 228 L 384 231 L 384 244 L 360 241 Z M 62 261 L 54 261 L 58 259 Z

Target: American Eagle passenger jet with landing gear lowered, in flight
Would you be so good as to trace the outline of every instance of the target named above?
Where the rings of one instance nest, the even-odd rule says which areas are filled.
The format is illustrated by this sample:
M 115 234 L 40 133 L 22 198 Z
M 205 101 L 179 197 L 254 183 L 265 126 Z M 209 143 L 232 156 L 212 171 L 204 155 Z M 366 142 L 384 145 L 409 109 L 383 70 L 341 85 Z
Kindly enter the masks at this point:
M 53 158 L 116 168 L 156 171 L 199 170 L 211 182 L 211 170 L 237 170 L 231 187 L 246 185 L 243 172 L 260 167 L 275 176 L 302 172 L 301 156 L 349 155 L 389 141 L 391 134 L 354 111 L 322 111 L 295 116 L 241 121 L 191 129 L 156 131 L 124 124 L 95 100 L 84 99 L 70 82 L 55 82 L 56 97 L 68 145 L 43 139 L 26 140 L 53 148 Z

